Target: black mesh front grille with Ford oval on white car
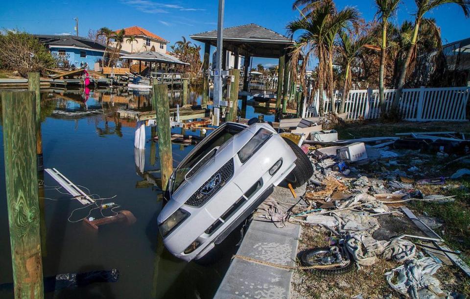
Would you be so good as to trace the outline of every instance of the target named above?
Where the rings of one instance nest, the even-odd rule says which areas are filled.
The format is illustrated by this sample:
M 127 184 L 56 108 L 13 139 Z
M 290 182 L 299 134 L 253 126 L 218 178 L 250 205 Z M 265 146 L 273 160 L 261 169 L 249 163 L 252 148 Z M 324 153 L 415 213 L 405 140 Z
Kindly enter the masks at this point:
M 186 200 L 185 204 L 199 207 L 217 193 L 234 175 L 234 159 L 230 159 Z

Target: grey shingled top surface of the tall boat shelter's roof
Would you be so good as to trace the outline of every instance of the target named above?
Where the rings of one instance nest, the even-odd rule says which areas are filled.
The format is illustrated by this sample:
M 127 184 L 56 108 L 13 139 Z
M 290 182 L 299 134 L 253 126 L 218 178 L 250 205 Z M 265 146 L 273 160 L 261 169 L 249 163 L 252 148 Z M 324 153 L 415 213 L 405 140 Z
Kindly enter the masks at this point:
M 191 37 L 192 36 L 216 38 L 217 30 L 192 34 Z M 290 38 L 257 24 L 247 24 L 224 28 L 224 39 L 226 38 L 243 38 L 253 40 L 261 39 L 286 42 L 291 41 Z

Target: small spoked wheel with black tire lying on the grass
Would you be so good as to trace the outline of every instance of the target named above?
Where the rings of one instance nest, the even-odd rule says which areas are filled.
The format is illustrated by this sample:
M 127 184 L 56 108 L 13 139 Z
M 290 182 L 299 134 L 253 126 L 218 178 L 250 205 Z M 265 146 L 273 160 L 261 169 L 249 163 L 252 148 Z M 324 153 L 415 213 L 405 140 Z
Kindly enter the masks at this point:
M 342 256 L 343 260 L 346 262 L 344 265 L 332 267 L 329 269 L 311 269 L 310 271 L 322 275 L 342 275 L 350 273 L 354 270 L 354 263 L 350 259 L 348 253 L 347 256 Z M 331 260 L 328 260 L 331 258 Z M 314 249 L 305 250 L 300 256 L 300 260 L 303 266 L 328 266 L 329 264 L 336 264 L 331 250 L 329 247 L 318 247 Z

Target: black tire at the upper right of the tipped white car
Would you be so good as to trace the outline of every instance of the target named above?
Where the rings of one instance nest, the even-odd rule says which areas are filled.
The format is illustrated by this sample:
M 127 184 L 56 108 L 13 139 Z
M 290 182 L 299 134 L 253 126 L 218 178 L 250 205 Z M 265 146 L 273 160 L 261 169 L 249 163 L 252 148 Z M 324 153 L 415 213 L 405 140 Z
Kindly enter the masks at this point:
M 307 157 L 305 152 L 299 148 L 292 140 L 284 138 L 284 141 L 294 151 L 297 160 L 295 160 L 295 168 L 290 174 L 287 175 L 285 180 L 290 183 L 294 188 L 300 187 L 305 184 L 310 177 L 313 175 L 313 166 L 310 159 Z

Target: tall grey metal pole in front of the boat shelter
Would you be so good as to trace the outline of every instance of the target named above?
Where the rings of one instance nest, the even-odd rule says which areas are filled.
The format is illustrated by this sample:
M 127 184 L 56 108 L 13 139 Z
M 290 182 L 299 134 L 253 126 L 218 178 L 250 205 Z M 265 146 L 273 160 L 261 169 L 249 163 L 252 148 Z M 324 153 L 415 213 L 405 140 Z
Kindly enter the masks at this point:
M 217 18 L 217 58 L 214 73 L 214 125 L 219 125 L 220 105 L 222 100 L 222 48 L 224 31 L 224 6 L 225 0 L 219 0 L 219 13 Z

